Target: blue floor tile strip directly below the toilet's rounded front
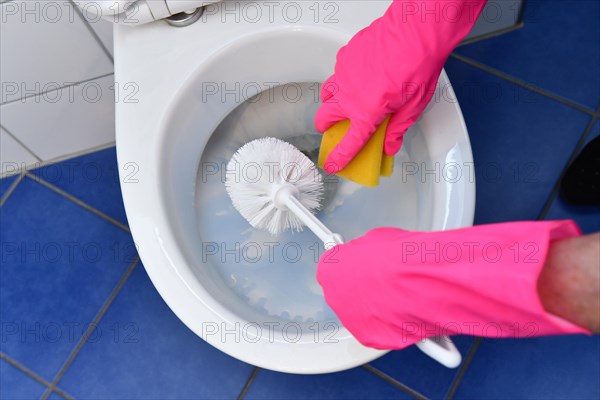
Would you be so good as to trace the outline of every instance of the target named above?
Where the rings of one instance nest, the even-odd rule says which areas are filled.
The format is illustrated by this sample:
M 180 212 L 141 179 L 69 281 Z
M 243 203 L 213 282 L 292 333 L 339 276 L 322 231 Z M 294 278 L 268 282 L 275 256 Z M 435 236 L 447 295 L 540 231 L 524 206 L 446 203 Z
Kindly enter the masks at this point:
M 411 399 L 415 397 L 362 367 L 322 375 L 261 370 L 244 399 Z

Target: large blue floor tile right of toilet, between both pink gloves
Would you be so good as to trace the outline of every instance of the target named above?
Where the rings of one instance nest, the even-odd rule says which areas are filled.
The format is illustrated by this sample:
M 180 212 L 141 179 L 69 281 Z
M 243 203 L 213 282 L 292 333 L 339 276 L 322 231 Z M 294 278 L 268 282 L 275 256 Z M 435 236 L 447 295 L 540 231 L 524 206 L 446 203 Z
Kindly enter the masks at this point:
M 461 61 L 446 71 L 473 148 L 475 223 L 537 219 L 591 117 Z

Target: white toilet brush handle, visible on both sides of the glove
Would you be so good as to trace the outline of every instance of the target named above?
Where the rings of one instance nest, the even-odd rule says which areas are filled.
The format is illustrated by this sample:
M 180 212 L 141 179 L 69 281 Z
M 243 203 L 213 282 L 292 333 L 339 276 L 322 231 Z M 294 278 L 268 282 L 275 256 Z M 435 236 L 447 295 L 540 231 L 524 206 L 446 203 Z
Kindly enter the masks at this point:
M 286 185 L 275 193 L 275 203 L 278 207 L 284 206 L 295 216 L 300 218 L 315 235 L 323 241 L 325 249 L 329 250 L 338 244 L 343 244 L 344 239 L 341 235 L 333 233 L 317 217 L 315 217 L 306 207 L 296 198 L 297 189 L 291 185 Z M 456 368 L 462 357 L 460 352 L 447 336 L 438 336 L 429 339 L 423 339 L 417 343 L 417 347 L 429 357 L 448 368 Z

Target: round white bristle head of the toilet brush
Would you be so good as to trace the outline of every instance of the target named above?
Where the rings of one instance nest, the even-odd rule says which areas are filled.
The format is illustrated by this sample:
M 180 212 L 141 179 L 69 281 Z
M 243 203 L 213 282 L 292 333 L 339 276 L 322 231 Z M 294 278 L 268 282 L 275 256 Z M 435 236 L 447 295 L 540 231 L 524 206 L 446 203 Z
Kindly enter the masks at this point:
M 293 213 L 278 208 L 274 195 L 291 184 L 297 199 L 316 212 L 323 197 L 323 180 L 316 165 L 300 150 L 275 138 L 256 139 L 242 146 L 227 164 L 225 187 L 233 206 L 250 225 L 277 235 L 287 229 L 301 231 Z

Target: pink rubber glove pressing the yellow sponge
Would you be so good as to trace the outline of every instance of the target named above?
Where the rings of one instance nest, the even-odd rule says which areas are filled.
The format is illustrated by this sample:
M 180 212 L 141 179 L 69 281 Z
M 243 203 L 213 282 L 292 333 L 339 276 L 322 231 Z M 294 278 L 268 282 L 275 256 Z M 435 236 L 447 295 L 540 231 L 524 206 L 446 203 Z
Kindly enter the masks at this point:
M 329 154 L 327 172 L 344 168 L 389 114 L 384 151 L 400 150 L 404 133 L 433 96 L 446 59 L 485 2 L 396 0 L 340 49 L 335 72 L 321 88 L 315 127 L 325 132 L 350 119 L 350 130 Z

